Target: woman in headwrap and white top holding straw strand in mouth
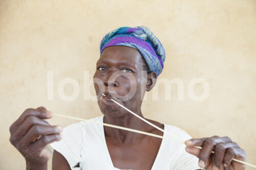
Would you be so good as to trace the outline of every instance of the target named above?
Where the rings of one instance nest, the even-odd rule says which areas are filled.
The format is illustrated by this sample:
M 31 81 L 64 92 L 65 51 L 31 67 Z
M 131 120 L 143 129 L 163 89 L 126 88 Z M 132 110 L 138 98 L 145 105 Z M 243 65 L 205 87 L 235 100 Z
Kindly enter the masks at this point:
M 175 136 L 187 140 L 186 146 L 86 122 L 66 127 L 61 136 L 61 127 L 50 126 L 43 120 L 51 118 L 52 113 L 39 107 L 27 109 L 10 127 L 10 141 L 25 157 L 27 169 L 47 168 L 50 154 L 45 147 L 49 143 L 54 148 L 53 169 L 245 168 L 232 161 L 232 158 L 245 161 L 246 155 L 230 138 L 190 139 L 179 128 L 146 119 L 163 129 L 163 133 L 112 101 L 143 117 L 143 96 L 156 84 L 165 59 L 162 44 L 149 29 L 121 27 L 113 30 L 102 39 L 100 54 L 94 86 L 103 115 L 92 120 L 169 138 Z M 202 150 L 195 148 L 196 145 Z

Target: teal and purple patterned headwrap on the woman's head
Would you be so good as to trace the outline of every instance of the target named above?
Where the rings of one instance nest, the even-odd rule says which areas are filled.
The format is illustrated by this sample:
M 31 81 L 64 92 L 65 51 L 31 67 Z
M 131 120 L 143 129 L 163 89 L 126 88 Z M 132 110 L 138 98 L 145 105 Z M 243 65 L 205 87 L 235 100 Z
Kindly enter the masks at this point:
M 108 46 L 130 46 L 141 53 L 148 66 L 148 72 L 163 70 L 165 51 L 158 38 L 146 27 L 120 27 L 106 34 L 100 42 L 100 54 Z

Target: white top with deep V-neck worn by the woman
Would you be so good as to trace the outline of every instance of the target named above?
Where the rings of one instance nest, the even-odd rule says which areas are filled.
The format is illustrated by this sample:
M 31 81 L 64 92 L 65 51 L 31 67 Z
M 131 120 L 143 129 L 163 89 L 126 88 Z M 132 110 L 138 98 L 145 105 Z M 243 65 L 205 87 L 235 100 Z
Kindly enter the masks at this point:
M 90 120 L 103 123 L 103 115 Z M 185 131 L 174 126 L 164 124 L 164 131 L 184 141 L 191 138 Z M 165 132 L 164 137 L 172 138 Z M 103 125 L 79 122 L 64 128 L 62 135 L 60 141 L 53 142 L 50 146 L 67 159 L 71 169 L 118 169 L 111 160 Z M 74 167 L 78 163 L 80 167 Z M 162 139 L 152 169 L 182 170 L 200 169 L 200 167 L 198 158 L 185 151 L 185 144 Z

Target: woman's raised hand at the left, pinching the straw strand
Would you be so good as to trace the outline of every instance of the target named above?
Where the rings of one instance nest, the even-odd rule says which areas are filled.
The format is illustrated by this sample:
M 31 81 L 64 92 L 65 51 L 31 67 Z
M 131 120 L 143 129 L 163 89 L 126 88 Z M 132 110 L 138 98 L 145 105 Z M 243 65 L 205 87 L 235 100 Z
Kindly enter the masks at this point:
M 52 112 L 44 107 L 27 109 L 10 127 L 10 142 L 25 157 L 27 168 L 44 169 L 50 158 L 46 145 L 61 139 L 60 126 L 51 126 L 46 120 Z

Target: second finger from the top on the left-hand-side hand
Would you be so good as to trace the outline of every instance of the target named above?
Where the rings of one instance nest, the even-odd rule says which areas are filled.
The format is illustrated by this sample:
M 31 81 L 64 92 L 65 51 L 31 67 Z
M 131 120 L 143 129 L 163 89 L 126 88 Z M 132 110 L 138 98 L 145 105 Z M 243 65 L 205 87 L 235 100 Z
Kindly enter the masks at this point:
M 21 125 L 19 125 L 13 135 L 16 135 L 18 138 L 20 138 L 24 136 L 34 125 L 49 126 L 49 123 L 36 116 L 28 116 L 25 121 Z

